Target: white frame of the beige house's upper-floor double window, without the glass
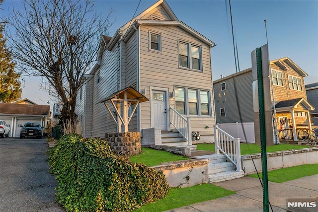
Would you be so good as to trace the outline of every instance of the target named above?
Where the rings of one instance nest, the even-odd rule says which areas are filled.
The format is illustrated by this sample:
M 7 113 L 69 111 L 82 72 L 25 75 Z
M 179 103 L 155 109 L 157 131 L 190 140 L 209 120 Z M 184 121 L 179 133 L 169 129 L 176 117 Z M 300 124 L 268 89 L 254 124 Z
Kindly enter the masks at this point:
M 187 65 L 188 67 L 184 67 L 184 66 L 181 66 L 180 64 L 180 43 L 182 44 L 185 44 L 187 45 L 187 57 L 188 57 L 188 61 L 187 61 Z M 199 49 L 199 69 L 194 69 L 192 67 L 192 46 L 193 47 L 196 47 Z M 185 55 L 184 55 L 185 56 Z M 198 45 L 198 44 L 194 44 L 194 43 L 190 43 L 190 42 L 187 42 L 187 41 L 183 41 L 183 40 L 178 40 L 178 67 L 180 69 L 186 69 L 186 70 L 191 70 L 191 71 L 197 71 L 197 72 L 203 72 L 203 64 L 202 64 L 202 46 L 201 45 Z

